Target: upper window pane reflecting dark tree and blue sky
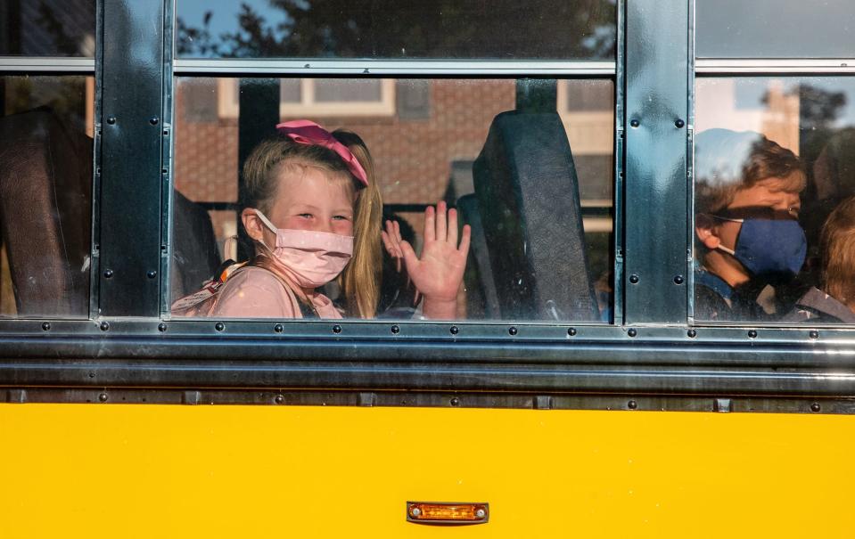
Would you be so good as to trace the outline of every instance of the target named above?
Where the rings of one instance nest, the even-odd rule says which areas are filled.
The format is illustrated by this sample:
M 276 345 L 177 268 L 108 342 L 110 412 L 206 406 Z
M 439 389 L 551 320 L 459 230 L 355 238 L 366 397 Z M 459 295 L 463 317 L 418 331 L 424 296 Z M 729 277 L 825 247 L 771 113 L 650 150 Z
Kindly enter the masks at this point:
M 190 58 L 614 58 L 614 0 L 177 4 Z

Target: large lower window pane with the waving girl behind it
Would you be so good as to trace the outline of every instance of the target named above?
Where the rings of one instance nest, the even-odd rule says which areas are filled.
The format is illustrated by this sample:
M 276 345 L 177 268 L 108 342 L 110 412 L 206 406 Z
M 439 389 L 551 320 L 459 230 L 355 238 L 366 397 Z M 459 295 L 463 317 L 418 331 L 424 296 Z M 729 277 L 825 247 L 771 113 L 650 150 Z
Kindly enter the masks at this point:
M 326 221 L 320 219 L 318 212 L 326 211 L 326 208 L 315 208 L 322 205 L 312 202 L 337 202 L 339 195 L 335 190 L 326 192 L 321 189 L 323 193 L 312 195 L 315 198 L 308 202 L 292 200 L 299 197 L 289 193 L 313 192 L 313 189 L 328 187 L 326 183 L 318 187 L 311 179 L 292 185 L 289 182 L 299 183 L 296 178 L 300 176 L 294 172 L 296 166 L 293 164 L 285 172 L 278 168 L 264 170 L 281 173 L 281 176 L 275 176 L 278 178 L 275 182 L 284 183 L 276 183 L 275 187 L 278 189 L 284 185 L 281 188 L 285 193 L 281 197 L 283 208 L 290 208 L 288 204 L 297 202 L 313 206 L 297 211 L 294 215 L 302 220 L 294 222 L 288 220 L 291 214 L 276 207 L 280 203 L 280 198 L 276 198 L 279 195 L 267 196 L 251 188 L 253 182 L 259 182 L 252 178 L 267 176 L 259 176 L 255 172 L 247 172 L 243 176 L 238 174 L 244 165 L 242 159 L 246 159 L 246 154 L 252 149 L 242 149 L 241 145 L 246 144 L 246 140 L 257 137 L 257 142 L 260 142 L 266 136 L 275 135 L 274 127 L 278 121 L 306 118 L 330 131 L 343 128 L 357 134 L 373 158 L 373 167 L 364 167 L 368 170 L 366 176 L 371 186 L 357 192 L 359 197 L 377 197 L 373 199 L 376 200 L 374 208 L 380 209 L 374 220 L 369 221 L 374 224 L 354 233 L 354 250 L 343 279 L 333 280 L 316 290 L 332 298 L 333 308 L 340 309 L 346 317 L 610 320 L 614 137 L 614 87 L 611 80 L 547 81 L 547 93 L 552 96 L 552 101 L 546 109 L 542 102 L 538 102 L 538 110 L 517 110 L 495 120 L 498 114 L 515 109 L 517 94 L 522 86 L 528 84 L 526 81 L 252 80 L 260 81 L 262 86 L 271 85 L 267 95 L 280 97 L 279 103 L 264 105 L 272 111 L 272 116 L 244 115 L 242 95 L 251 103 L 252 110 L 259 110 L 261 105 L 256 95 L 246 94 L 250 91 L 245 86 L 246 79 L 177 79 L 175 245 L 176 249 L 181 245 L 204 245 L 207 249 L 196 253 L 195 261 L 185 256 L 175 258 L 174 300 L 200 290 L 202 281 L 218 270 L 223 259 L 247 259 L 256 250 L 270 252 L 259 242 L 252 241 L 250 236 L 264 241 L 268 249 L 274 249 L 272 258 L 284 265 L 289 263 L 288 260 L 294 265 L 314 264 L 317 272 L 324 273 L 322 266 L 331 267 L 329 265 L 335 262 L 327 258 L 323 262 L 317 259 L 310 261 L 305 253 L 297 252 L 300 249 L 295 251 L 296 248 L 288 243 L 292 240 L 282 233 L 275 235 L 271 231 L 266 235 L 270 229 L 254 212 L 249 217 L 242 214 L 245 208 L 259 208 L 262 213 L 270 214 L 269 220 L 277 229 L 300 229 L 304 222 L 310 221 L 322 223 L 323 226 L 317 230 L 347 235 L 336 228 L 339 226 L 339 214 L 331 214 Z M 537 82 L 544 84 L 543 81 Z M 584 104 L 580 106 L 578 102 Z M 526 103 L 522 102 L 522 106 L 525 107 Z M 275 114 L 277 107 L 278 115 Z M 267 127 L 259 129 L 259 126 Z M 336 136 L 350 141 L 348 135 L 336 132 Z M 261 152 L 256 143 L 251 146 Z M 284 150 L 279 148 L 277 151 Z M 361 157 L 357 150 L 351 153 Z M 274 155 L 278 154 L 274 151 Z M 341 168 L 341 159 L 336 159 L 339 162 L 337 166 Z M 578 176 L 576 184 L 572 181 L 573 171 Z M 335 172 L 333 176 L 335 174 L 340 173 Z M 372 188 L 377 190 L 376 195 L 366 194 Z M 349 189 L 353 190 L 352 185 Z M 580 200 L 573 196 L 575 191 L 580 193 Z M 347 189 L 344 192 L 347 193 Z M 350 200 L 347 199 L 349 196 L 353 196 L 352 193 L 345 195 L 346 200 Z M 471 249 L 468 252 L 462 250 L 463 257 L 454 255 L 454 248 L 441 253 L 435 251 L 440 253 L 441 264 L 438 263 L 439 269 L 432 272 L 423 271 L 430 278 L 421 281 L 419 288 L 424 299 L 414 304 L 415 292 L 408 285 L 407 274 L 411 282 L 418 281 L 417 268 L 405 263 L 403 267 L 409 271 L 399 271 L 401 253 L 396 251 L 395 240 L 399 233 L 424 261 L 430 242 L 425 235 L 424 212 L 440 200 L 449 208 L 456 208 L 458 226 L 470 225 Z M 358 209 L 366 208 L 359 204 L 356 205 L 358 212 L 367 211 Z M 351 226 L 360 226 L 358 215 L 353 215 L 352 200 L 338 205 L 344 208 L 333 209 L 347 214 L 343 216 L 344 220 L 353 219 L 356 224 Z M 207 214 L 200 209 L 207 210 Z M 189 215 L 204 226 L 188 224 Z M 250 220 L 249 225 L 245 226 L 247 219 Z M 391 225 L 391 233 L 394 234 L 391 247 L 380 239 L 380 227 L 385 226 L 386 221 L 397 224 Z M 581 230 L 580 225 L 583 227 Z M 208 233 L 194 236 L 205 228 Z M 370 230 L 370 234 L 362 230 Z M 464 233 L 460 230 L 459 234 L 458 237 L 463 237 Z M 240 236 L 240 241 L 230 240 L 235 235 Z M 363 235 L 374 240 L 364 244 L 361 241 Z M 287 249 L 277 251 L 277 246 Z M 278 258 L 280 255 L 285 258 Z M 455 256 L 458 258 L 453 258 Z M 366 258 L 371 262 L 366 263 Z M 455 260 L 458 265 L 451 264 Z M 254 266 L 258 265 L 256 262 L 257 259 Z M 261 266 L 260 270 L 269 270 L 263 264 Z M 365 275 L 351 269 L 366 266 L 367 269 L 363 270 L 367 272 Z M 259 268 L 237 271 L 249 275 Z M 450 297 L 447 294 L 442 296 L 447 300 L 445 307 L 449 306 L 448 302 L 453 307 L 452 314 L 437 311 L 434 306 L 438 304 L 436 296 L 439 294 L 434 293 L 433 298 L 430 296 L 432 279 L 440 274 L 453 275 L 454 271 L 463 272 L 462 282 L 458 275 L 460 286 L 452 290 Z M 185 278 L 191 272 L 195 277 Z M 348 272 L 359 275 L 352 277 L 353 283 L 357 284 L 348 282 L 351 278 Z M 325 278 L 329 281 L 337 274 L 333 267 L 332 276 L 326 275 Z M 302 277 L 286 274 L 284 282 L 293 285 L 289 279 L 298 278 Z M 259 285 L 262 290 L 267 290 L 264 287 L 269 289 L 262 292 L 260 298 L 253 296 L 256 292 L 246 292 L 248 299 L 243 303 L 235 303 L 234 294 L 237 292 L 230 292 L 230 282 L 237 282 L 234 290 L 241 290 L 239 285 L 251 289 L 250 285 L 258 284 L 249 276 L 241 277 L 239 281 L 230 276 L 215 299 L 205 299 L 202 295 L 197 297 L 203 300 L 198 305 L 187 300 L 178 304 L 181 309 L 174 308 L 173 313 L 251 318 L 331 317 L 325 306 L 317 313 L 306 313 L 305 309 L 295 310 L 300 305 L 267 305 L 271 297 L 281 297 L 282 290 L 286 290 L 282 281 L 275 278 L 273 281 L 267 278 Z M 312 286 L 302 288 L 313 290 Z M 292 296 L 300 295 L 299 292 L 289 294 L 286 293 L 288 301 Z M 364 305 L 366 301 L 370 305 Z M 233 307 L 225 309 L 223 305 Z M 317 308 L 317 305 L 312 306 Z M 437 312 L 446 314 L 437 315 Z

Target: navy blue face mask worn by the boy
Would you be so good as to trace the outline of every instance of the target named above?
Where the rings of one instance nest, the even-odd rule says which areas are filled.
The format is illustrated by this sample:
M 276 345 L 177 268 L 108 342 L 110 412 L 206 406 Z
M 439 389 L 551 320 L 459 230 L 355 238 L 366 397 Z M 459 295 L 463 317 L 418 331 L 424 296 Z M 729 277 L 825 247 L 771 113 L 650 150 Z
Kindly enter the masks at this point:
M 774 284 L 790 281 L 802 269 L 808 240 L 798 221 L 718 218 L 742 223 L 736 249 L 719 249 L 733 255 L 752 276 Z

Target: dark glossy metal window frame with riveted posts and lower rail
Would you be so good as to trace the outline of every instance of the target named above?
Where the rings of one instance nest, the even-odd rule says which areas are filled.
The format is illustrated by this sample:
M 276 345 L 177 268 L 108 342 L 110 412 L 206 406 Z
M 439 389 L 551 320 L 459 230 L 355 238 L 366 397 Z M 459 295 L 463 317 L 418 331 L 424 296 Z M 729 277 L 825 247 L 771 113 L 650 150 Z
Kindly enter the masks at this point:
M 133 6 L 131 6 L 133 4 Z M 658 6 L 658 7 L 657 7 Z M 122 9 L 136 19 L 114 24 Z M 834 61 L 695 61 L 694 1 L 618 0 L 617 56 L 614 62 L 587 61 L 235 61 L 177 60 L 173 53 L 173 0 L 98 3 L 98 51 L 104 36 L 144 37 L 137 45 L 153 47 L 146 64 L 154 72 L 130 71 L 129 82 L 144 86 L 139 99 L 106 99 L 105 83 L 115 80 L 119 59 L 99 56 L 93 63 L 97 81 L 95 117 L 95 192 L 91 319 L 0 320 L 0 385 L 135 388 L 315 388 L 424 391 L 510 391 L 533 395 L 692 395 L 814 396 L 855 395 L 855 328 L 822 326 L 755 327 L 750 324 L 708 327 L 691 319 L 694 290 L 690 253 L 693 193 L 692 126 L 695 72 L 838 72 L 849 66 Z M 162 32 L 136 31 L 145 20 L 162 20 Z M 137 25 L 139 28 L 137 28 Z M 128 26 L 130 28 L 128 28 Z M 649 29 L 649 30 L 645 30 Z M 667 29 L 667 31 L 663 31 Z M 654 33 L 660 33 L 656 36 Z M 128 37 L 132 39 L 132 37 Z M 652 41 L 645 41 L 652 40 Z M 673 61 L 655 55 L 653 44 L 668 45 Z M 683 45 L 674 45 L 684 44 Z M 645 45 L 647 44 L 647 45 Z M 117 46 L 117 45 L 111 45 Z M 127 50 L 119 47 L 120 50 Z M 23 72 L 36 65 L 3 59 L 3 70 Z M 736 62 L 736 63 L 734 63 Z M 746 63 L 747 62 L 747 63 Z M 79 67 L 78 59 L 48 61 L 38 69 Z M 477 64 L 477 65 L 476 65 Z M 855 66 L 855 61 L 849 65 Z M 77 66 L 77 67 L 74 67 Z M 139 66 L 135 64 L 134 68 Z M 106 73 L 105 73 L 106 71 Z M 661 80 L 651 83 L 645 73 Z M 791 71 L 788 71 L 791 72 Z M 174 78 L 190 74 L 292 77 L 487 77 L 613 78 L 614 103 L 614 323 L 612 325 L 526 321 L 218 321 L 176 320 L 169 316 L 171 249 Z M 685 85 L 668 93 L 667 85 Z M 141 91 L 143 91 L 141 90 Z M 157 99 L 152 101 L 152 96 Z M 109 96 L 108 96 L 109 97 Z M 662 105 L 656 112 L 648 99 Z M 140 103 L 144 107 L 140 109 Z M 111 108 L 112 107 L 112 108 Z M 121 126 L 124 114 L 139 109 L 141 126 L 103 133 Z M 118 110 L 119 112 L 117 112 Z M 669 116 L 676 114 L 676 117 Z M 108 121 L 113 115 L 119 122 Z M 158 121 L 152 120 L 157 118 Z M 639 120 L 641 129 L 634 125 Z M 685 129 L 677 127 L 685 122 Z M 650 126 L 648 127 L 648 122 Z M 150 127 L 146 127 L 145 124 Z M 645 129 L 651 129 L 645 131 Z M 684 159 L 674 174 L 667 159 L 648 159 L 653 135 L 670 133 L 670 150 Z M 635 129 L 635 131 L 633 131 Z M 679 130 L 683 131 L 680 132 Z M 156 133 L 155 133 L 156 132 Z M 645 135 L 645 133 L 647 135 Z M 676 133 L 676 135 L 675 135 Z M 679 135 L 684 133 L 685 135 Z M 112 154 L 105 137 L 123 143 Z M 122 138 L 124 137 L 124 138 Z M 122 156 L 138 165 L 135 143 L 156 137 L 148 148 L 144 170 L 110 167 Z M 641 137 L 641 138 L 639 138 Z M 681 138 L 682 137 L 682 138 Z M 116 147 L 116 146 L 114 146 Z M 649 167 L 639 167 L 648 159 Z M 157 166 L 154 166 L 154 163 Z M 678 162 L 678 161 L 676 161 Z M 114 163 L 115 164 L 115 163 Z M 143 205 L 123 192 L 104 187 L 126 171 L 147 185 Z M 100 173 L 99 173 L 100 172 Z M 649 212 L 633 211 L 646 177 L 661 176 L 645 200 Z M 647 176 L 645 176 L 647 175 Z M 669 176 L 670 175 L 670 176 Z M 671 191 L 669 191 L 669 189 Z M 628 202 L 631 204 L 628 205 Z M 633 205 L 636 205 L 635 207 Z M 685 208 L 685 209 L 681 209 Z M 133 215 L 135 211 L 141 216 Z M 681 213 L 680 213 L 681 212 Z M 675 218 L 675 215 L 680 215 Z M 122 230 L 105 220 L 119 219 L 122 230 L 145 223 L 158 241 L 143 246 L 120 242 Z M 664 231 L 664 233 L 663 233 Z M 136 253 L 144 264 L 122 265 L 133 279 L 105 284 L 103 242 L 113 235 L 112 255 Z M 150 233 L 153 236 L 153 232 Z M 658 244 L 676 241 L 669 257 Z M 675 257 L 675 253 L 680 255 Z M 115 259 L 115 258 L 114 258 Z M 146 274 L 155 269 L 154 277 Z M 118 273 L 118 272 L 117 272 Z M 681 283 L 675 277 L 684 274 Z M 637 279 L 633 279 L 636 276 Z M 115 279 L 115 277 L 112 277 Z M 144 279 L 156 283 L 140 290 Z M 119 282 L 118 285 L 115 285 Z M 108 286 L 108 288 L 103 288 Z M 113 287 L 113 288 L 110 288 Z M 99 295 L 99 290 L 100 295 Z M 117 292 L 128 296 L 116 300 Z M 686 292 L 688 290 L 688 292 Z M 123 305 L 145 299 L 141 314 L 128 316 Z M 671 316 L 666 307 L 679 306 Z M 134 313 L 137 313 L 136 311 Z M 666 315 L 667 314 L 667 315 Z M 672 313 L 671 313 L 672 314 Z M 397 331 L 396 331 L 397 329 Z M 235 359 L 237 358 L 237 359 Z M 782 376 L 781 370 L 787 374 Z M 539 402 L 539 401 L 538 401 Z M 630 407 L 632 408 L 632 407 Z

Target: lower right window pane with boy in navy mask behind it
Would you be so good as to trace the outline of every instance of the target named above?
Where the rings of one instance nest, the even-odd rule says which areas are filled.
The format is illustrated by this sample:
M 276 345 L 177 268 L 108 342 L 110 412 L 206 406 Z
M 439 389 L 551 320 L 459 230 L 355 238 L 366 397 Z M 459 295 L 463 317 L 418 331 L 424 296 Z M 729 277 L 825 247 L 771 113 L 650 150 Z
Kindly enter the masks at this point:
M 855 323 L 855 78 L 699 78 L 695 318 Z

